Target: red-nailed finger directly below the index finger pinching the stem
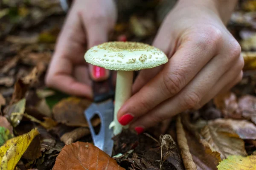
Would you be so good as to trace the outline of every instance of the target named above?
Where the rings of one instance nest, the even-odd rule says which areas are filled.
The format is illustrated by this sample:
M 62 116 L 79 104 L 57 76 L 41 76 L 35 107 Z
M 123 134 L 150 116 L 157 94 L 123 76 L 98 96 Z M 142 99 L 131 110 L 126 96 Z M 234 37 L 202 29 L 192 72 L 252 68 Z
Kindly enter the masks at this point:
M 186 109 L 197 107 L 203 96 L 212 89 L 213 85 L 230 69 L 230 65 L 238 59 L 237 56 L 232 57 L 234 58 L 232 60 L 226 58 L 227 56 L 223 55 L 214 57 L 179 94 L 141 116 L 131 127 L 141 131 L 142 128 L 154 126 Z

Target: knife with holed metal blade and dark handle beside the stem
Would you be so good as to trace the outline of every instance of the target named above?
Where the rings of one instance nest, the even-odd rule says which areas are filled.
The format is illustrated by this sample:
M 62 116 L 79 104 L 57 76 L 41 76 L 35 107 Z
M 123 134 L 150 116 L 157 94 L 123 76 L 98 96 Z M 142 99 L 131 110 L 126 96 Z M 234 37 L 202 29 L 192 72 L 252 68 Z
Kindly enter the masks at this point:
M 93 103 L 84 111 L 84 115 L 87 119 L 93 144 L 99 149 L 103 150 L 109 156 L 113 151 L 113 130 L 109 129 L 109 124 L 113 121 L 113 99 L 114 88 L 112 81 L 112 72 L 108 79 L 96 82 L 93 81 Z M 94 116 L 98 115 L 100 119 L 100 130 L 96 134 L 91 120 Z

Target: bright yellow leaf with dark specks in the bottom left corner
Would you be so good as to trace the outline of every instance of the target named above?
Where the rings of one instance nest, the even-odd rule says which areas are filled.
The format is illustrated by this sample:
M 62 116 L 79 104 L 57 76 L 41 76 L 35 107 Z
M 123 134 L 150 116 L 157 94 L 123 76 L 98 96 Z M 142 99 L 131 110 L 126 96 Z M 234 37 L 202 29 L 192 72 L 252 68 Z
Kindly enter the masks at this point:
M 0 169 L 14 170 L 23 153 L 29 147 L 35 136 L 39 134 L 37 128 L 21 136 L 9 139 L 0 147 Z

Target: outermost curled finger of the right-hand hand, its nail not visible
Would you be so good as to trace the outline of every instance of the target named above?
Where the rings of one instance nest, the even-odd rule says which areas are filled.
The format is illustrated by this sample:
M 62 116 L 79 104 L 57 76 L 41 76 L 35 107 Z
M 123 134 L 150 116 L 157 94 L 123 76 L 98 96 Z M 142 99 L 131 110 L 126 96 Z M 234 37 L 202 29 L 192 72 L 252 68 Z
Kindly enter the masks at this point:
M 207 102 L 209 102 L 213 97 L 215 97 L 218 93 L 223 93 L 224 91 L 229 90 L 234 85 L 236 85 L 243 76 L 242 68 L 244 67 L 244 59 L 242 56 L 239 57 L 236 64 L 224 74 L 220 80 L 213 86 L 213 88 L 205 95 L 199 105 L 195 109 L 201 108 Z

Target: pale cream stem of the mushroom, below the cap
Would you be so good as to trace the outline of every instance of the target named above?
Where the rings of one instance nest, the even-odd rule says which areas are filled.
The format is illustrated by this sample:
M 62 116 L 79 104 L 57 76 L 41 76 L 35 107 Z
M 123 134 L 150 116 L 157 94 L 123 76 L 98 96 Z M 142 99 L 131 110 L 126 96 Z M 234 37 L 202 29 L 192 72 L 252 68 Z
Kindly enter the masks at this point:
M 110 128 L 113 127 L 114 135 L 122 132 L 123 126 L 117 120 L 117 112 L 125 101 L 131 97 L 132 81 L 133 71 L 117 71 L 114 120 L 110 125 Z

